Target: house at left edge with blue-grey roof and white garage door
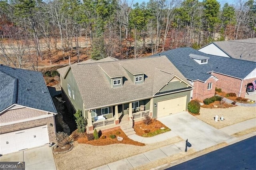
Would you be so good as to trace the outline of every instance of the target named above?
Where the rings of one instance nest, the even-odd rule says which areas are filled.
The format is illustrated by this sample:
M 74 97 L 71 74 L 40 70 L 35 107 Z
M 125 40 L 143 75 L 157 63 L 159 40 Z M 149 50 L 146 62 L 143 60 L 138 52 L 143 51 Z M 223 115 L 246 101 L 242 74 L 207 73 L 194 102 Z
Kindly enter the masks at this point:
M 56 142 L 57 114 L 42 73 L 0 65 L 0 154 Z

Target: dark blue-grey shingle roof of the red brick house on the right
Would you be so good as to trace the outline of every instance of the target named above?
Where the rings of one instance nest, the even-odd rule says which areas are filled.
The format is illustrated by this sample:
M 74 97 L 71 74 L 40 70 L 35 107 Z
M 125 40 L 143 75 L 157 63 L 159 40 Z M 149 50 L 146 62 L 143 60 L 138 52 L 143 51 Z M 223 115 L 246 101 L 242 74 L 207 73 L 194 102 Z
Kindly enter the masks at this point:
M 197 63 L 189 56 L 191 54 L 208 57 L 208 63 Z M 256 68 L 256 62 L 209 55 L 190 47 L 172 49 L 157 55 L 166 55 L 187 79 L 193 81 L 205 82 L 212 76 L 212 71 L 244 79 Z

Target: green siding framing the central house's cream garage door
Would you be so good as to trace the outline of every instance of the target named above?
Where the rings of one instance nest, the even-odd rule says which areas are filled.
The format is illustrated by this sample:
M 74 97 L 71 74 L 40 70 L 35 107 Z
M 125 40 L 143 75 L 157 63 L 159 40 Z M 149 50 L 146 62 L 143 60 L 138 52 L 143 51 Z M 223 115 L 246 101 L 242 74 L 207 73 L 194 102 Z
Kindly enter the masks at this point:
M 186 101 L 186 110 L 188 109 L 188 102 L 190 102 L 190 90 L 189 91 L 183 91 L 180 93 L 173 93 L 170 95 L 164 95 L 164 96 L 159 96 L 159 97 L 154 97 L 153 98 L 153 103 L 157 103 L 158 101 L 164 101 L 168 99 L 173 99 L 177 97 L 182 97 L 182 96 L 187 96 L 187 101 Z M 155 107 L 153 104 L 153 117 L 157 117 L 157 106 Z

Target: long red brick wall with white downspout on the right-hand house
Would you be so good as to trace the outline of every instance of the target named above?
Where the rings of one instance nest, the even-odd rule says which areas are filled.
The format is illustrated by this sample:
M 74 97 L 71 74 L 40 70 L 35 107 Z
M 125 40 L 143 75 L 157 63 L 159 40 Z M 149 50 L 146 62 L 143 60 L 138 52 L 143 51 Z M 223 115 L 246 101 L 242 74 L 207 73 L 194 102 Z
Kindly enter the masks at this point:
M 240 87 L 242 83 L 241 79 L 236 79 L 236 78 L 229 77 L 226 75 L 221 75 L 218 73 L 212 73 L 212 75 L 216 76 L 219 79 L 216 82 L 216 87 L 221 88 L 222 91 L 226 93 L 236 93 L 236 96 L 237 97 L 239 96 Z M 251 83 L 255 79 L 256 78 L 252 78 L 252 79 L 246 79 L 243 81 L 240 97 L 244 97 L 244 95 L 246 94 L 247 84 Z

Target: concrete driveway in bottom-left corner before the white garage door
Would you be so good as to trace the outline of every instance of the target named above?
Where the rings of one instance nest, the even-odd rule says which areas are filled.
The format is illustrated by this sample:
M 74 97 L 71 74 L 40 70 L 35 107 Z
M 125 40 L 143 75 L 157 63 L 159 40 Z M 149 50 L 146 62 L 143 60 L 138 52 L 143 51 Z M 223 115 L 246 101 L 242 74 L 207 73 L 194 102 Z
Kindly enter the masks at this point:
M 52 148 L 48 145 L 3 155 L 0 162 L 25 162 L 26 170 L 56 170 Z

